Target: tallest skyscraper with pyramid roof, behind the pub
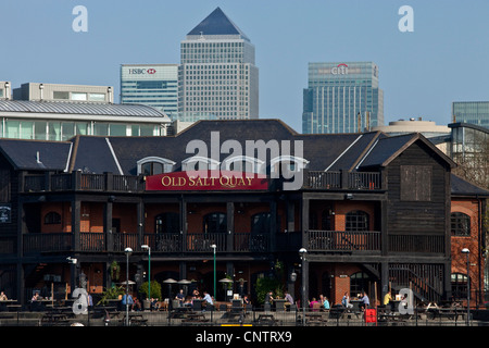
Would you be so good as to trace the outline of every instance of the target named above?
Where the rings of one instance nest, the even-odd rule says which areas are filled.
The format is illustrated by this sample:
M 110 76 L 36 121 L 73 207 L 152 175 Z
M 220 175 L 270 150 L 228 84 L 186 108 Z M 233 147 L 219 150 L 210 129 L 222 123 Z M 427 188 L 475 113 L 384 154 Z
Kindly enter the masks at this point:
M 220 8 L 181 41 L 178 80 L 183 116 L 259 117 L 254 46 Z

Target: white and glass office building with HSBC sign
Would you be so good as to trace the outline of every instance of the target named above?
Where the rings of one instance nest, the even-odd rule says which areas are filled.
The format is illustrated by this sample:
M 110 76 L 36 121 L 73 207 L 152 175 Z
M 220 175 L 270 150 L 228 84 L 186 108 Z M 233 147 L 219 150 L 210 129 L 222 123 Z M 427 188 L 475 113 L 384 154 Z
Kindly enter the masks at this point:
M 171 116 L 178 111 L 178 64 L 122 64 L 121 103 L 153 107 Z

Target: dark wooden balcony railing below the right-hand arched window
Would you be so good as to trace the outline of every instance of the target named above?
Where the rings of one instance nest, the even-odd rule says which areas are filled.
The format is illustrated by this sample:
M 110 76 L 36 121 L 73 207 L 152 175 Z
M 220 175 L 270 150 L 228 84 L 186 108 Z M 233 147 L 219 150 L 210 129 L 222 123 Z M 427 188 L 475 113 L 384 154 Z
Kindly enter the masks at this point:
M 310 251 L 380 251 L 380 232 L 309 231 Z

